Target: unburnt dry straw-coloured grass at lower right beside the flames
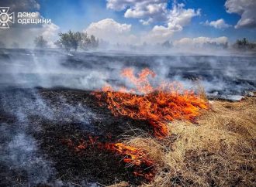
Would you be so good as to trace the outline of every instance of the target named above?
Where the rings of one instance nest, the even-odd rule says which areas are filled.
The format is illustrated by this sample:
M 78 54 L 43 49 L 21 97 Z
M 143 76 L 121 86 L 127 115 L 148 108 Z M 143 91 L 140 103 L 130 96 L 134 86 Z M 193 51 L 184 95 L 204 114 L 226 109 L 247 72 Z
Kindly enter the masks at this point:
M 156 161 L 154 181 L 143 186 L 256 186 L 256 98 L 211 105 L 198 124 L 169 124 L 164 141 L 130 138 Z

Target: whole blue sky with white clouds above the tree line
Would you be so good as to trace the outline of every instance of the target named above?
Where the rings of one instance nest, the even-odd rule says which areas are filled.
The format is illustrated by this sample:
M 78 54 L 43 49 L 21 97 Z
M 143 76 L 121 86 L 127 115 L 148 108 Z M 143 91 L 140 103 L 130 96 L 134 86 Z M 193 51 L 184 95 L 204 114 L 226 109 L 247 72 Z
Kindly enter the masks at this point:
M 2 0 L 0 6 L 52 21 L 0 30 L 9 40 L 31 32 L 54 41 L 57 32 L 69 29 L 112 43 L 256 40 L 256 0 Z

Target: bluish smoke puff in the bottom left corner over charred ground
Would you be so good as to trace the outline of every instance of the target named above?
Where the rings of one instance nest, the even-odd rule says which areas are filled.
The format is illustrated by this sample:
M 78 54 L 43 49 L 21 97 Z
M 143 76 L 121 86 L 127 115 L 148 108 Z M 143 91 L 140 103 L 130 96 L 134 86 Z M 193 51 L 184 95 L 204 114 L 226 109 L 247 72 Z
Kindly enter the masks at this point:
M 1 186 L 35 186 L 47 183 L 54 175 L 51 162 L 44 158 L 36 140 L 25 129 L 19 122 L 0 123 Z

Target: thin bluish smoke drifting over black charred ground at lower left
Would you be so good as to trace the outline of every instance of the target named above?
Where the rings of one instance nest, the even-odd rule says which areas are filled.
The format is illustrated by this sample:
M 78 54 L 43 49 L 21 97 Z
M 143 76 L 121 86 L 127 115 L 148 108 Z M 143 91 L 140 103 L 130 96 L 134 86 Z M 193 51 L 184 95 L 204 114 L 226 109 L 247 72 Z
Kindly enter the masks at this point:
M 94 131 L 90 124 L 95 114 L 80 103 L 67 103 L 63 97 L 57 97 L 55 102 L 51 104 L 34 89 L 9 87 L 1 90 L 1 186 L 74 186 L 56 179 L 54 163 L 40 150 L 40 141 L 33 134 L 43 131 L 42 121 L 78 123 L 81 128 Z

